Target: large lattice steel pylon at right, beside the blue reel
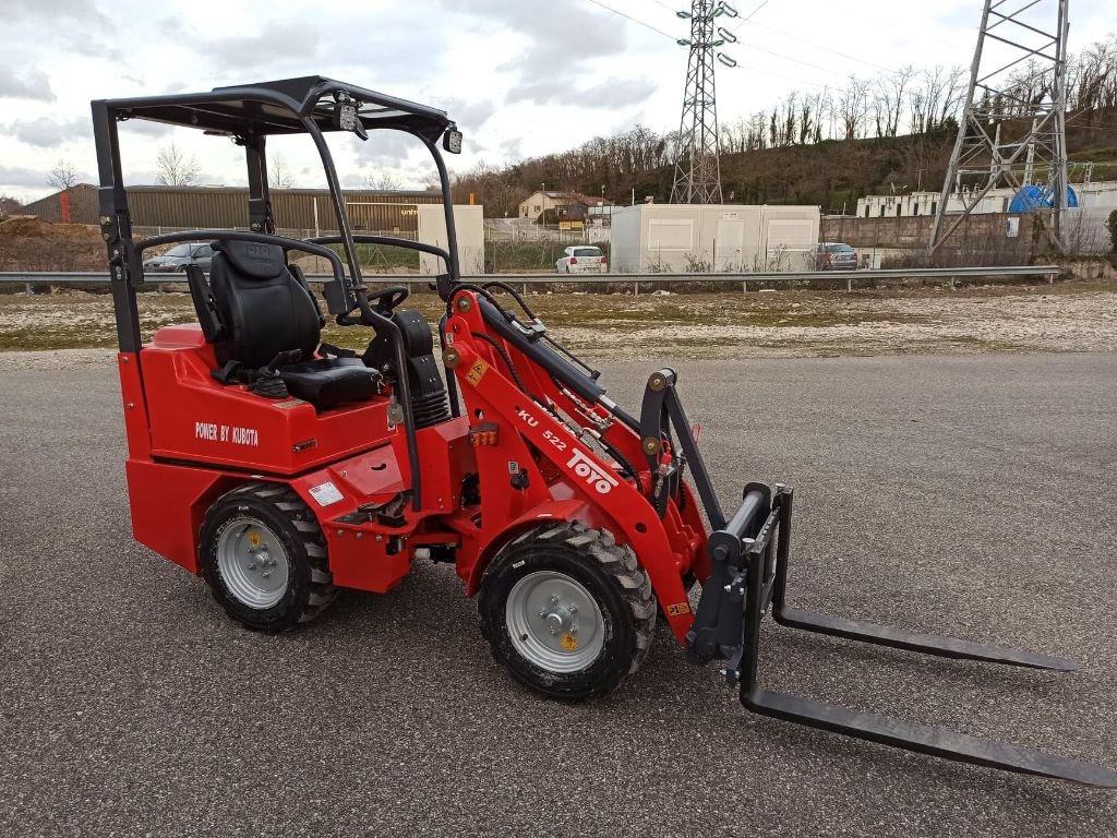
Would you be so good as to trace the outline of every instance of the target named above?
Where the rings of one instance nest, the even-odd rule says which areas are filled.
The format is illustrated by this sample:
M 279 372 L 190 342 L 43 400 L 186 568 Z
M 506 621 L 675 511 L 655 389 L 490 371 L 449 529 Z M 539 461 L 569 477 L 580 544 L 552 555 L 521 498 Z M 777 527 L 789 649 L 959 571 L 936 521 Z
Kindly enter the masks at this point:
M 1009 187 L 1023 198 L 1052 247 L 1063 250 L 1068 4 L 1069 0 L 985 0 L 928 253 L 934 254 L 996 187 Z M 1021 76 L 1025 61 L 1033 74 Z M 1031 127 L 1021 131 L 1021 123 Z M 1047 173 L 1046 180 L 1023 192 L 1038 170 Z M 963 207 L 947 217 L 952 197 Z

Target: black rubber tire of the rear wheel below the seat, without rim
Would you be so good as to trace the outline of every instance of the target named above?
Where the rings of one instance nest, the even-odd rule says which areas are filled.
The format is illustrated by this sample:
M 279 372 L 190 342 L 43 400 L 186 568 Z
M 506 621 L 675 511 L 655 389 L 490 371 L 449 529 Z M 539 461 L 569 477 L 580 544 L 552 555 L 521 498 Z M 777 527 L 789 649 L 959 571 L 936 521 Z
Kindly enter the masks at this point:
M 238 598 L 218 560 L 222 534 L 246 520 L 270 531 L 286 553 L 286 590 L 278 602 L 267 608 L 252 607 Z M 213 598 L 232 619 L 256 631 L 277 632 L 313 620 L 337 596 L 322 527 L 289 486 L 248 483 L 219 497 L 206 513 L 198 553 Z

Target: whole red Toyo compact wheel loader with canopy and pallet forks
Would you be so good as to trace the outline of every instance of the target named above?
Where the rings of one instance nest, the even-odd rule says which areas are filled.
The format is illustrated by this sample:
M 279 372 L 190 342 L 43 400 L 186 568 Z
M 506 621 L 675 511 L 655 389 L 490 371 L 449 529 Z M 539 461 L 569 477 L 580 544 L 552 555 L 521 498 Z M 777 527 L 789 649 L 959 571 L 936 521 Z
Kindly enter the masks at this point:
M 248 168 L 247 230 L 133 240 L 118 128 L 153 120 L 231 139 Z M 1117 774 L 1037 751 L 765 689 L 761 621 L 996 664 L 1072 669 L 1042 655 L 802 611 L 785 598 L 790 486 L 750 483 L 723 512 L 670 369 L 639 413 L 558 345 L 514 289 L 464 282 L 441 149 L 461 134 L 435 108 L 327 78 L 93 103 L 101 227 L 112 275 L 135 537 L 204 578 L 248 628 L 313 619 L 340 588 L 385 593 L 417 561 L 452 563 L 477 596 L 496 659 L 531 689 L 615 689 L 658 619 L 697 664 L 722 661 L 752 712 L 982 765 L 1117 785 Z M 447 247 L 356 235 L 327 132 L 411 134 L 441 183 Z M 314 142 L 338 234 L 276 234 L 268 136 Z M 441 149 L 440 149 L 441 146 Z M 198 323 L 140 335 L 144 251 L 212 241 L 190 266 Z M 361 244 L 439 258 L 435 335 L 408 289 L 362 280 Z M 328 261 L 325 311 L 292 254 Z M 509 301 L 505 305 L 503 301 Z M 371 330 L 357 354 L 322 342 L 326 318 Z M 700 585 L 700 596 L 691 599 Z

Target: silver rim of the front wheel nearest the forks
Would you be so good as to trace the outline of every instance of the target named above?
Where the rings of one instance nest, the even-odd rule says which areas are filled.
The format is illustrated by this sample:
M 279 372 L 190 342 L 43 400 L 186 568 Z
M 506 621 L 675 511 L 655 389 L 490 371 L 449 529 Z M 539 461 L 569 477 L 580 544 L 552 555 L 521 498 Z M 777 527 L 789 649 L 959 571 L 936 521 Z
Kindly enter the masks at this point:
M 564 573 L 542 570 L 513 585 L 505 603 L 512 645 L 552 673 L 590 666 L 605 642 L 605 621 L 590 592 Z

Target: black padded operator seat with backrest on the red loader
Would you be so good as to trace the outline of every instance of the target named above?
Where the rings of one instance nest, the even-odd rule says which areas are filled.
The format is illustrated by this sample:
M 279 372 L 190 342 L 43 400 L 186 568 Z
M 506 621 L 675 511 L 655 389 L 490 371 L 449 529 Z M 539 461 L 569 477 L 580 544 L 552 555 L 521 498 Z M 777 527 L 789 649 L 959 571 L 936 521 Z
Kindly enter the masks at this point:
M 209 293 L 218 324 L 207 330 L 203 322 L 202 327 L 219 364 L 262 370 L 281 353 L 297 350 L 298 361 L 276 370 L 292 396 L 327 409 L 365 401 L 376 392 L 379 373 L 361 359 L 314 358 L 325 318 L 302 272 L 287 265 L 283 248 L 214 241 L 213 251 Z M 201 316 L 203 301 L 197 298 L 195 285 L 191 282 L 191 293 Z

